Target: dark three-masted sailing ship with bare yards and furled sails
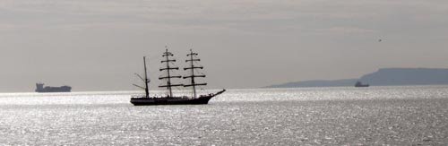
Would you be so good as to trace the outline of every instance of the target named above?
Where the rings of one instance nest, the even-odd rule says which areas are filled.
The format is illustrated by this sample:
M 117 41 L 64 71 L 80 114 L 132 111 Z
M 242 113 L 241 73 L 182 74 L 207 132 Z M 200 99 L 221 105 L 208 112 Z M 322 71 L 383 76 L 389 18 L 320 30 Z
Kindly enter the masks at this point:
M 173 70 L 179 70 L 179 67 L 172 66 L 171 64 L 176 62 L 176 59 L 172 59 L 170 57 L 173 57 L 174 55 L 171 52 L 168 52 L 168 49 L 165 50 L 165 52 L 162 54 L 162 57 L 164 57 L 164 60 L 161 61 L 162 64 L 165 66 L 160 68 L 160 72 L 164 72 L 166 76 L 159 77 L 159 80 L 162 80 L 166 84 L 160 85 L 159 88 L 167 89 L 168 94 L 162 97 L 151 97 L 149 95 L 149 83 L 151 80 L 148 79 L 148 72 L 146 67 L 146 57 L 143 56 L 143 65 L 144 65 L 144 77 L 137 74 L 137 76 L 142 79 L 142 82 L 144 82 L 144 87 L 134 84 L 134 86 L 141 88 L 145 91 L 144 96 L 140 97 L 133 97 L 131 98 L 131 103 L 134 104 L 134 106 L 152 106 L 152 105 L 200 105 L 200 104 L 208 104 L 209 100 L 217 95 L 220 95 L 226 90 L 220 90 L 216 93 L 210 93 L 210 94 L 203 94 L 198 95 L 196 92 L 196 88 L 198 86 L 205 86 L 207 83 L 196 82 L 196 78 L 204 78 L 205 74 L 203 73 L 196 73 L 196 69 L 203 69 L 202 66 L 196 65 L 196 62 L 199 62 L 200 59 L 197 58 L 198 54 L 194 53 L 192 49 L 190 49 L 190 53 L 186 55 L 188 57 L 187 60 L 185 60 L 186 63 L 189 64 L 189 66 L 185 67 L 185 71 L 190 71 L 188 75 L 181 76 L 181 75 L 173 75 Z M 175 78 L 182 78 L 185 80 L 188 80 L 188 84 L 181 84 L 181 83 L 173 83 L 172 79 Z M 185 88 L 191 88 L 193 91 L 192 96 L 174 96 L 172 88 L 173 87 L 185 87 Z

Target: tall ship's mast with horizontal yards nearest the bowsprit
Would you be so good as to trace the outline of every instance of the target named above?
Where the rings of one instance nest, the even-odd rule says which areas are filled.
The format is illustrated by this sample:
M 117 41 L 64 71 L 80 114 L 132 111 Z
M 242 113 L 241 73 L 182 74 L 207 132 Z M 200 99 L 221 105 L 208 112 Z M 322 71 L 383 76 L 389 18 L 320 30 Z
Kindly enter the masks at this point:
M 196 58 L 195 56 L 197 56 L 197 53 L 194 53 L 192 49 L 190 49 L 190 54 L 186 55 L 186 56 L 190 56 L 190 59 L 185 60 L 185 62 L 190 62 L 190 67 L 185 67 L 184 70 L 191 70 L 191 75 L 190 76 L 184 76 L 184 79 L 186 78 L 191 78 L 191 84 L 187 84 L 184 85 L 184 87 L 193 87 L 193 94 L 194 94 L 194 99 L 196 99 L 196 86 L 205 86 L 207 85 L 207 83 L 196 83 L 194 82 L 194 78 L 197 77 L 205 77 L 205 75 L 203 74 L 194 74 L 194 69 L 203 69 L 202 66 L 195 66 L 194 62 L 195 61 L 201 61 L 201 59 Z

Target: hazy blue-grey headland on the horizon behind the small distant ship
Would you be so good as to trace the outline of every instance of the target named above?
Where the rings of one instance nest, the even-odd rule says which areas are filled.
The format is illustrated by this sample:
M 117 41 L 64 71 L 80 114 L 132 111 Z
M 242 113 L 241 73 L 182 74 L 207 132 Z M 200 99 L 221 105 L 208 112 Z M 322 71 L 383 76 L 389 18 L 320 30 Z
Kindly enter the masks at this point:
M 358 81 L 368 83 L 371 86 L 444 85 L 448 84 L 448 69 L 382 68 L 375 73 L 367 73 L 358 79 L 288 82 L 266 88 L 343 87 L 353 86 Z

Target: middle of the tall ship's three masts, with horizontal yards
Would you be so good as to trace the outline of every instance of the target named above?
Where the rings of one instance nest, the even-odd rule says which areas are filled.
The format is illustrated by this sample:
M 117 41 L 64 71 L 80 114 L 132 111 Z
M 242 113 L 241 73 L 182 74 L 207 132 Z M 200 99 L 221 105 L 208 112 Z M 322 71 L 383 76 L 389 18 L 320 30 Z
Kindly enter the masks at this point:
M 182 76 L 180 75 L 171 75 L 171 70 L 178 70 L 179 67 L 171 67 L 169 66 L 169 63 L 171 62 L 176 62 L 176 59 L 169 59 L 169 56 L 174 56 L 171 52 L 168 52 L 168 48 L 165 50 L 165 52 L 162 55 L 163 57 L 165 57 L 165 60 L 162 60 L 161 63 L 165 63 L 167 66 L 165 68 L 160 68 L 160 71 L 167 71 L 167 76 L 162 76 L 159 77 L 159 80 L 164 80 L 164 79 L 168 79 L 167 80 L 167 84 L 166 85 L 160 85 L 159 88 L 167 88 L 169 90 L 169 97 L 173 97 L 173 91 L 171 90 L 171 87 L 175 87 L 175 86 L 183 86 L 183 84 L 172 84 L 171 83 L 171 78 L 181 78 Z

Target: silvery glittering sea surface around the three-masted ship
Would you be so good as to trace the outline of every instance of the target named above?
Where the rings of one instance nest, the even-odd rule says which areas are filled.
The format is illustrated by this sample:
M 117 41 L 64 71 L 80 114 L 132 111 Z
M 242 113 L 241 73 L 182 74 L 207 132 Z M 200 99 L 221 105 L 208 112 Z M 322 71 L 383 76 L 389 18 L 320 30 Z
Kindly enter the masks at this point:
M 1 93 L 0 145 L 448 143 L 448 86 L 228 90 L 200 106 L 134 107 L 135 93 Z

